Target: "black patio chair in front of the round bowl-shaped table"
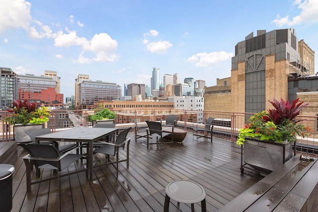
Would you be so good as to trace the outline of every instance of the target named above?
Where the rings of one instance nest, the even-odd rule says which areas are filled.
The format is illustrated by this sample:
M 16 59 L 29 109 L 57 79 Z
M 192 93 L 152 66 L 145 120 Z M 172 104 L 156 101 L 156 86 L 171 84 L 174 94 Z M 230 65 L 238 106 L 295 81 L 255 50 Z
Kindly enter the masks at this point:
M 151 122 L 151 121 L 146 121 L 148 128 L 147 128 L 147 148 L 149 148 L 150 144 L 160 144 L 160 147 L 162 147 L 162 143 L 171 143 L 173 144 L 173 127 L 171 130 L 171 133 L 164 132 L 165 129 L 162 129 L 161 123 L 160 122 Z M 165 136 L 171 135 L 172 139 L 171 141 L 163 141 L 162 138 Z M 149 142 L 149 138 L 153 140 L 153 137 L 156 136 L 156 142 Z M 158 140 L 159 137 L 159 140 Z

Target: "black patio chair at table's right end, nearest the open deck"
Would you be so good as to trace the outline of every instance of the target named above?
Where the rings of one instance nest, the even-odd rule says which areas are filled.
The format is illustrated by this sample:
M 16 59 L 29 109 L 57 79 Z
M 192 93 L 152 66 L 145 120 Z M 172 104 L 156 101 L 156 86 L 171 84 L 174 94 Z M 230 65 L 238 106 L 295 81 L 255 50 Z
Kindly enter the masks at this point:
M 124 131 L 120 132 L 119 135 L 116 138 L 116 141 L 114 143 L 104 143 L 102 146 L 96 148 L 93 153 L 102 153 L 106 155 L 106 163 L 105 164 L 99 164 L 94 167 L 103 166 L 106 164 L 112 164 L 116 169 L 116 175 L 118 177 L 118 163 L 127 161 L 127 168 L 129 166 L 129 144 L 130 139 L 127 138 L 127 135 L 130 128 L 125 129 Z M 119 160 L 119 151 L 124 149 L 126 145 L 126 159 Z M 109 157 L 109 155 L 115 156 L 115 161 L 112 161 Z M 108 163 L 107 163 L 108 161 Z M 116 163 L 116 166 L 115 166 Z

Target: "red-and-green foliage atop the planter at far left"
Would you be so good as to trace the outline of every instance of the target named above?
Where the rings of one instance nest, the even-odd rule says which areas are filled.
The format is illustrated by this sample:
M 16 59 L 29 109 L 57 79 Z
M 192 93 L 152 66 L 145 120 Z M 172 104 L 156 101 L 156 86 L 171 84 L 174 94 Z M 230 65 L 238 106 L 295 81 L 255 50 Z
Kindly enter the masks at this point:
M 4 118 L 10 125 L 22 124 L 43 124 L 49 121 L 51 112 L 47 107 L 39 107 L 36 102 L 30 102 L 28 99 L 14 100 L 13 107 L 8 112 L 12 113 Z

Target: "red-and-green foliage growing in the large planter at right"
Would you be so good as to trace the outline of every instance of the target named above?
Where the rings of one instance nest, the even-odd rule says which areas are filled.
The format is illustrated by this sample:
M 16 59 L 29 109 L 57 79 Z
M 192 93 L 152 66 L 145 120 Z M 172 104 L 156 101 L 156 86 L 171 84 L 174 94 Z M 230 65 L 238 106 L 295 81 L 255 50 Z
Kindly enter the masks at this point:
M 304 102 L 298 103 L 298 101 L 299 99 L 296 99 L 292 104 L 289 103 L 289 100 L 285 102 L 283 99 L 280 102 L 276 99 L 272 102 L 269 101 L 275 109 L 268 109 L 251 116 L 248 124 L 244 124 L 244 128 L 239 130 L 237 144 L 242 145 L 246 137 L 282 143 L 283 141 L 297 141 L 297 135 L 303 138 L 308 136 L 310 128 L 297 124 L 304 119 L 293 122 L 301 109 L 308 105 L 302 105 Z

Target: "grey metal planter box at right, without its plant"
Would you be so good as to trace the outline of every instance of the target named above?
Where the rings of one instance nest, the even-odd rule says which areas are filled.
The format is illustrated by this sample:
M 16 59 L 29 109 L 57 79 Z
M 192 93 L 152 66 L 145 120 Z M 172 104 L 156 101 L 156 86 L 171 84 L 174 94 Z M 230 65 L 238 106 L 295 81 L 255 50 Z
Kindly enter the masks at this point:
M 293 156 L 292 143 L 277 143 L 246 139 L 244 163 L 254 170 L 269 174 Z

